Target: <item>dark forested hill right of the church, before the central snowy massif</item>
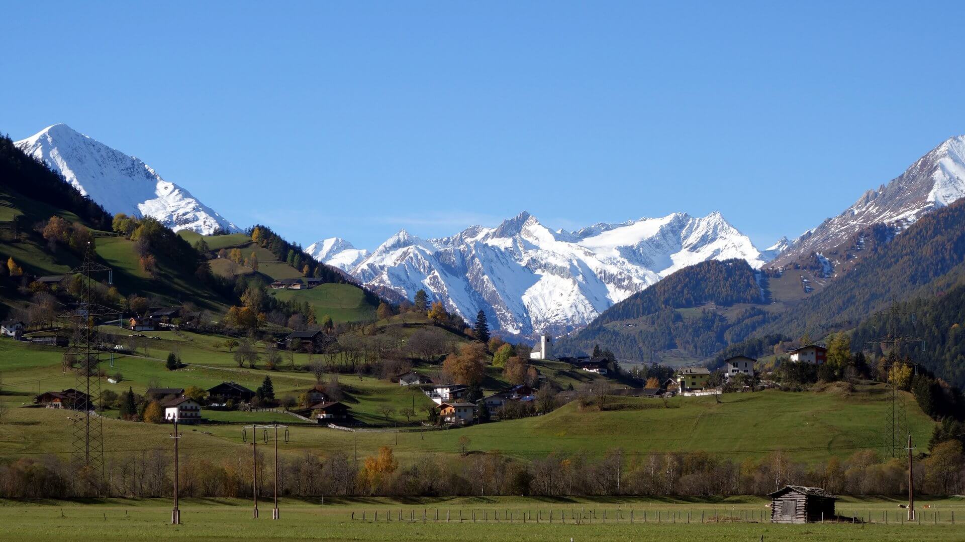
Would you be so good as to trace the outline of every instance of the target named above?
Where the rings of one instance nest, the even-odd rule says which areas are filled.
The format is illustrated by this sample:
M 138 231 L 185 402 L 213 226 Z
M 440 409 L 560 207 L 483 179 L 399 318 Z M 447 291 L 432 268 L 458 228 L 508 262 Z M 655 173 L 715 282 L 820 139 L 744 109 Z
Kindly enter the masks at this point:
M 584 330 L 561 339 L 557 352 L 586 353 L 600 344 L 617 357 L 654 361 L 658 352 L 680 349 L 712 356 L 756 329 L 766 312 L 753 304 L 768 299 L 766 282 L 742 259 L 707 260 L 681 269 L 600 314 Z M 729 318 L 710 308 L 751 304 Z

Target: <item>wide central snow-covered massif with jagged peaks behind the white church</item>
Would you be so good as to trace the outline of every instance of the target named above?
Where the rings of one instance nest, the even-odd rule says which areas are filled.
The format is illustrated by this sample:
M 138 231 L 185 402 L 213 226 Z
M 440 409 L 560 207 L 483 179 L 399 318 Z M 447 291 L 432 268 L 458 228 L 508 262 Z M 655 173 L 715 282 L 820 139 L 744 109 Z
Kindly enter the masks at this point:
M 311 249 L 311 247 L 310 247 Z M 510 334 L 562 334 L 677 269 L 762 256 L 719 213 L 675 213 L 577 231 L 550 230 L 523 212 L 496 228 L 474 226 L 421 239 L 400 230 L 348 273 L 412 299 L 425 288 L 448 310 Z

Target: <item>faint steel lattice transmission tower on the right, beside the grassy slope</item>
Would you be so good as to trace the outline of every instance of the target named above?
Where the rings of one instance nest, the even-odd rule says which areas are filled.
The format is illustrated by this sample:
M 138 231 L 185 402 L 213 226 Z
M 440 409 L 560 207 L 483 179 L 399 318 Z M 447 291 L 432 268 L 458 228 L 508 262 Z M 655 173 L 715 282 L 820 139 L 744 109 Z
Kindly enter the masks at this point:
M 901 312 L 897 305 L 892 305 L 888 309 L 875 312 L 875 316 L 888 318 L 888 335 L 878 339 L 871 339 L 869 344 L 880 344 L 882 349 L 887 349 L 890 355 L 899 344 L 924 343 L 924 339 L 898 335 L 897 319 L 901 315 L 911 315 L 914 321 L 914 313 Z M 909 365 L 912 371 L 915 364 L 911 360 L 899 360 L 897 358 L 889 360 L 885 358 L 885 363 L 880 365 L 887 371 L 889 407 L 885 412 L 885 431 L 882 434 L 884 447 L 889 449 L 892 457 L 899 457 L 905 449 L 905 439 L 908 435 L 908 416 L 905 409 L 904 396 L 898 390 L 898 383 L 891 378 L 892 368 L 896 365 Z M 879 376 L 880 378 L 880 376 Z

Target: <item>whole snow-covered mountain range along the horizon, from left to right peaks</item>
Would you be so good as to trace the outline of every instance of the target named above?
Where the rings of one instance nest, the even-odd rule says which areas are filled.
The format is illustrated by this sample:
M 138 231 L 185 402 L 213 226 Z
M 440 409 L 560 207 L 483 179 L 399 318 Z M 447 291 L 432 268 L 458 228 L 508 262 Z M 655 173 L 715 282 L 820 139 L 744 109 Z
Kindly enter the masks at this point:
M 140 159 L 66 124 L 48 126 L 15 145 L 112 214 L 151 216 L 173 230 L 239 231 Z M 422 239 L 400 230 L 371 252 L 341 238 L 320 240 L 306 252 L 389 299 L 412 299 L 426 289 L 467 320 L 483 311 L 490 325 L 505 333 L 563 335 L 662 278 L 711 259 L 743 259 L 755 269 L 816 269 L 811 279 L 801 277 L 804 293 L 810 293 L 818 282 L 823 286 L 861 261 L 869 243 L 888 242 L 963 196 L 965 136 L 957 136 L 840 215 L 764 250 L 717 212 L 574 231 L 552 230 L 523 212 L 496 228 L 474 226 L 449 237 Z

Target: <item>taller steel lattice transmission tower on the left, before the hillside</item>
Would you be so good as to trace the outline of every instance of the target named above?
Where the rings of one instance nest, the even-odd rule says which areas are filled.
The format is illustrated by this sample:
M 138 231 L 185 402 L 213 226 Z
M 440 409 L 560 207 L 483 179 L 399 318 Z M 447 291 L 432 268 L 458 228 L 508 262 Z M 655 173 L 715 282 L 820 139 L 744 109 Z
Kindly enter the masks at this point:
M 73 371 L 76 377 L 74 390 L 80 392 L 76 394 L 73 405 L 77 412 L 71 417 L 73 457 L 79 468 L 86 468 L 89 474 L 102 479 L 104 434 L 96 405 L 100 398 L 99 370 L 103 348 L 97 339 L 96 320 L 98 317 L 117 314 L 118 310 L 94 302 L 94 275 L 99 273 L 108 273 L 109 279 L 113 278 L 110 267 L 95 261 L 93 243 L 88 243 L 84 262 L 69 272 L 70 275 L 79 277 L 75 279 L 79 286 L 79 302 L 76 308 L 60 314 L 58 319 L 66 323 L 70 330 L 69 346 L 63 357 L 64 371 Z

